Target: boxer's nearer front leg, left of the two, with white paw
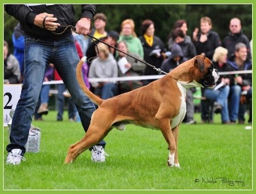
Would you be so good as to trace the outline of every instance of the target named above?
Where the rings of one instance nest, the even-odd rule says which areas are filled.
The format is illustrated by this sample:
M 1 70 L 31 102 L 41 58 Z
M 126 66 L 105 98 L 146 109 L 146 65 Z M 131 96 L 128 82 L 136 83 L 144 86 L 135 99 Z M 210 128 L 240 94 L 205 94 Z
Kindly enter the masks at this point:
M 176 143 L 174 135 L 172 134 L 170 119 L 157 119 L 160 129 L 163 133 L 164 138 L 168 144 L 169 155 L 167 160 L 167 165 L 170 167 L 174 167 L 175 161 L 175 153 L 176 153 Z

